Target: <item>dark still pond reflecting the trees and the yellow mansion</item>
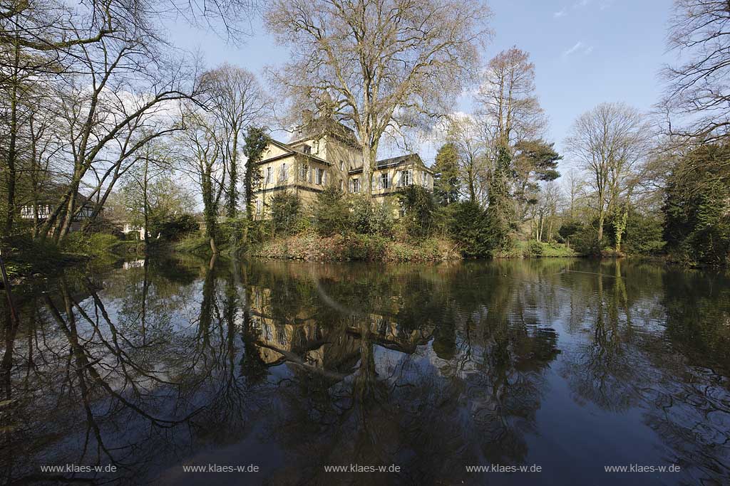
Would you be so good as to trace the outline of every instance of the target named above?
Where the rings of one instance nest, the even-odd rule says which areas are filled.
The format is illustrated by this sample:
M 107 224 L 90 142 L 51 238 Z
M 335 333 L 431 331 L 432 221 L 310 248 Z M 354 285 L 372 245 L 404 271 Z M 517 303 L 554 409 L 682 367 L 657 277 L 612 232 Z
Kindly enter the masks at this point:
M 730 484 L 726 273 L 169 256 L 15 300 L 3 484 Z

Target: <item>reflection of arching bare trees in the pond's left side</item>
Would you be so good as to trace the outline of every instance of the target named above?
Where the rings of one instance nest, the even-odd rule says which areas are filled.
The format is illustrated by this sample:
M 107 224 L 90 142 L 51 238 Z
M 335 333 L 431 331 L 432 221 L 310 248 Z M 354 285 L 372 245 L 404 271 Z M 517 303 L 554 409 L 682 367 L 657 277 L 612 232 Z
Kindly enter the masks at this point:
M 145 482 L 150 468 L 204 436 L 220 442 L 247 433 L 257 399 L 233 366 L 238 303 L 235 289 L 218 292 L 212 267 L 193 321 L 179 299 L 161 297 L 171 283 L 150 279 L 146 264 L 102 278 L 114 283 L 104 296 L 91 280 L 61 278 L 53 293 L 20 306 L 23 329 L 4 336 L 15 351 L 3 390 L 12 410 L 4 414 L 12 424 L 0 455 L 4 482 L 54 480 L 39 463 L 111 463 L 119 472 L 107 479 Z M 177 297 L 194 294 L 178 287 Z M 210 437 L 216 430 L 223 435 Z

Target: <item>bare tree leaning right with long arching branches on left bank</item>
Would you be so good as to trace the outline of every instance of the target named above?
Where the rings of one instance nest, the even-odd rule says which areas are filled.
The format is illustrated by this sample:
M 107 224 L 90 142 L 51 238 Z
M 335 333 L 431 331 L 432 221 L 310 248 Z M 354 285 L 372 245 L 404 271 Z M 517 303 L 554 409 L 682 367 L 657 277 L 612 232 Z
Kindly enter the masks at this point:
M 195 94 L 184 64 L 152 62 L 145 39 L 122 34 L 128 33 L 102 39 L 93 49 L 80 47 L 80 74 L 64 77 L 59 122 L 69 145 L 68 189 L 43 224 L 42 238 L 53 233 L 58 240 L 69 232 L 82 209 L 77 199 L 85 176 L 103 165 L 112 177 L 101 181 L 113 185 L 123 162 L 134 161 L 130 157 L 153 138 L 180 128 L 180 102 Z M 100 191 L 97 184 L 93 192 Z

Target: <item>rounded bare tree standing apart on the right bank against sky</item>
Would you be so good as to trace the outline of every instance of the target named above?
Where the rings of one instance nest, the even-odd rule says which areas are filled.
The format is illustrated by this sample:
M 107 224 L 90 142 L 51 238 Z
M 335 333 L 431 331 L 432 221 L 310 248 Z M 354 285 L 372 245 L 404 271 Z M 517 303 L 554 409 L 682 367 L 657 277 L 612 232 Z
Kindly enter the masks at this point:
M 580 115 L 565 144 L 593 189 L 593 209 L 598 217 L 598 241 L 603 238 L 606 216 L 621 195 L 631 197 L 636 169 L 648 153 L 651 130 L 637 109 L 624 103 L 602 103 Z

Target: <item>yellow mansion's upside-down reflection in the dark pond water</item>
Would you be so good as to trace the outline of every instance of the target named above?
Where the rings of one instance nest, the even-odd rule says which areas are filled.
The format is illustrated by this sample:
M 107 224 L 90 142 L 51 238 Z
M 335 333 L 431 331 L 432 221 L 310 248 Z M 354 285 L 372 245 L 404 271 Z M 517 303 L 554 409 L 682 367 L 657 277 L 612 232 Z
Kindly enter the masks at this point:
M 406 329 L 380 314 L 343 316 L 338 321 L 320 322 L 315 307 L 301 305 L 287 318 L 274 316 L 271 289 L 255 287 L 250 299 L 250 332 L 256 336 L 258 352 L 266 364 L 295 361 L 328 371 L 345 372 L 360 357 L 361 340 L 405 353 L 430 339 L 433 326 Z

